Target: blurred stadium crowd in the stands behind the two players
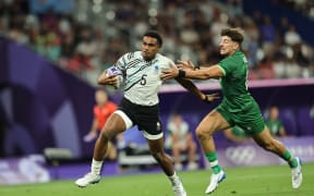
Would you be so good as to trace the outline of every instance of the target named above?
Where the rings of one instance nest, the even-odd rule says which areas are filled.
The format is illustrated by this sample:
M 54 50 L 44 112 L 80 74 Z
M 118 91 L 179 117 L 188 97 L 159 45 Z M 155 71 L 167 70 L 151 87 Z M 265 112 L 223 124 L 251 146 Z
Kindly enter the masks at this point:
M 224 2 L 224 3 L 222 3 Z M 251 79 L 314 76 L 313 46 L 287 17 L 275 25 L 258 11 L 245 15 L 242 0 L 3 0 L 0 35 L 27 45 L 53 64 L 96 85 L 121 54 L 140 49 L 149 28 L 164 36 L 162 53 L 174 61 L 219 61 L 219 33 L 244 29 Z M 314 20 L 314 3 L 277 0 Z M 305 11 L 306 12 L 305 12 Z

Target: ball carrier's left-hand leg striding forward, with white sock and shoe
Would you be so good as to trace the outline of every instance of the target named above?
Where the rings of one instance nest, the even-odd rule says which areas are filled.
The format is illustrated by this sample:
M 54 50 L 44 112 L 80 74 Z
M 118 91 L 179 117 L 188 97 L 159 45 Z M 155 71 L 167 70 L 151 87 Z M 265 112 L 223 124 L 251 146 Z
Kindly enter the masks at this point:
M 124 121 L 119 114 L 112 113 L 96 140 L 90 172 L 75 181 L 77 186 L 85 187 L 100 181 L 102 161 L 107 155 L 109 139 L 123 131 L 125 131 Z

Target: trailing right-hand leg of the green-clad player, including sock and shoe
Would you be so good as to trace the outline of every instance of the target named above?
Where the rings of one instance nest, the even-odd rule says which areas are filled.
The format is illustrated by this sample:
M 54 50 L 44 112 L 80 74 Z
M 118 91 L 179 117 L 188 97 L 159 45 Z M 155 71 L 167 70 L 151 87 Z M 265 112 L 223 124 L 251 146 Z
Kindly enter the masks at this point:
M 302 184 L 302 166 L 300 158 L 291 156 L 285 145 L 270 135 L 267 126 L 265 126 L 261 133 L 253 135 L 253 138 L 265 150 L 278 155 L 288 162 L 292 173 L 292 187 L 299 188 Z

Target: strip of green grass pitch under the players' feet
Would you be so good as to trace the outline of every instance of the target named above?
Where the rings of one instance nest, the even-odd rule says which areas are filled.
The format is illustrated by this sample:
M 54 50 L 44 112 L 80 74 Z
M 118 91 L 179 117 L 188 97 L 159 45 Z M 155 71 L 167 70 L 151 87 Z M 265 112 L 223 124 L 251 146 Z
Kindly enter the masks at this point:
M 314 195 L 314 163 L 303 164 L 303 184 L 291 187 L 287 166 L 227 168 L 227 179 L 219 184 L 215 196 L 228 195 Z M 189 196 L 202 196 L 209 182 L 209 171 L 179 172 Z M 73 181 L 55 181 L 44 184 L 0 186 L 1 196 L 173 196 L 162 173 L 102 177 L 100 183 L 78 188 Z

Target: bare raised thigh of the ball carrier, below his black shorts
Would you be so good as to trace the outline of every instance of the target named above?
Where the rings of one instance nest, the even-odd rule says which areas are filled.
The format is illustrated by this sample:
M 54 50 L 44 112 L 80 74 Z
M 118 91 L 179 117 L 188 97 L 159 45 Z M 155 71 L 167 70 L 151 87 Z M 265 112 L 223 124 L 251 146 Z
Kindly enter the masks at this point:
M 118 135 L 119 133 L 122 133 L 126 130 L 126 124 L 121 115 L 118 113 L 112 113 L 105 126 L 102 127 L 102 133 L 105 133 L 109 138 L 111 138 L 114 135 Z

